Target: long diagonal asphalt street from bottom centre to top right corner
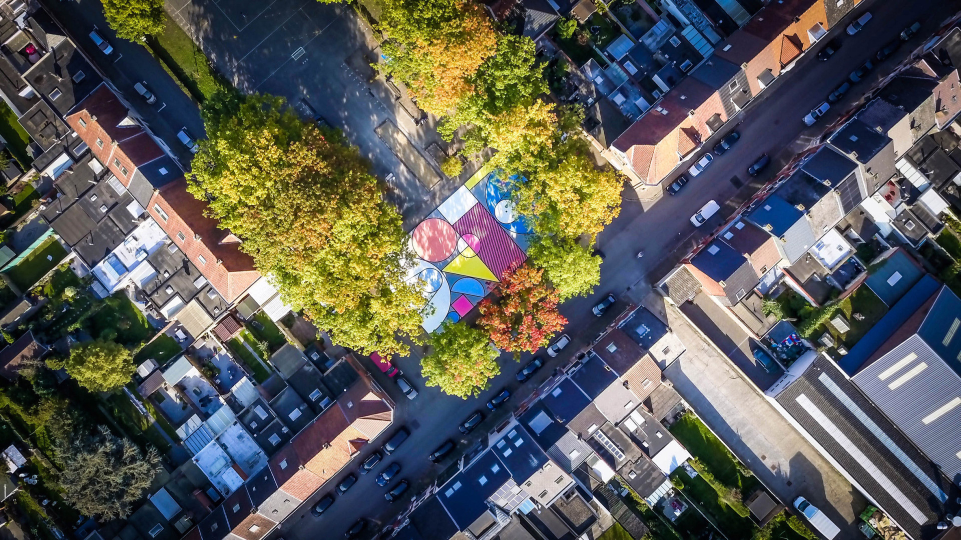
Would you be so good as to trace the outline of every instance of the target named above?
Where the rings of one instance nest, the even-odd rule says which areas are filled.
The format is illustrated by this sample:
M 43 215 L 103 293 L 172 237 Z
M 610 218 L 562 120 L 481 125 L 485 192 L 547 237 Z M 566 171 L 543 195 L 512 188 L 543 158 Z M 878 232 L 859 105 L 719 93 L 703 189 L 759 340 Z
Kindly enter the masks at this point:
M 602 270 L 602 284 L 596 293 L 589 298 L 579 298 L 565 303 L 561 312 L 570 321 L 568 332 L 573 338 L 572 344 L 560 357 L 550 359 L 545 367 L 527 382 L 522 388 L 514 378 L 517 370 L 528 361 L 529 355 L 522 357 L 521 363 L 515 362 L 509 356 L 502 357 L 503 373 L 495 378 L 489 390 L 480 394 L 479 398 L 459 400 L 444 396 L 436 388 L 426 388 L 419 377 L 419 357 L 416 355 L 401 358 L 396 363 L 406 372 L 408 380 L 414 383 L 420 395 L 412 402 L 397 391 L 395 385 L 382 380 L 380 372 L 375 378 L 382 380 L 382 385 L 391 392 L 399 405 L 397 418 L 399 424 L 406 424 L 412 436 L 401 450 L 384 460 L 374 474 L 379 473 L 387 464 L 398 461 L 402 466 L 400 478 L 412 481 L 414 491 L 423 488 L 429 479 L 440 473 L 449 465 L 454 456 L 449 457 L 441 465 L 432 465 L 427 460 L 434 448 L 448 438 L 458 441 L 458 452 L 471 448 L 479 433 L 490 430 L 506 414 L 508 409 L 520 401 L 517 396 L 530 392 L 535 384 L 539 384 L 550 376 L 557 365 L 567 362 L 580 348 L 589 345 L 604 327 L 610 323 L 620 309 L 608 312 L 605 317 L 596 318 L 590 313 L 590 307 L 597 303 L 608 291 L 614 292 L 622 299 L 632 298 L 637 301 L 650 292 L 651 279 L 659 279 L 666 269 L 673 266 L 677 258 L 694 245 L 711 229 L 736 209 L 740 203 L 752 195 L 758 185 L 763 184 L 776 174 L 776 171 L 798 151 L 807 148 L 811 141 L 820 136 L 843 110 L 852 107 L 867 89 L 889 72 L 895 65 L 908 55 L 909 51 L 924 41 L 924 36 L 930 35 L 941 21 L 958 10 L 956 2 L 941 2 L 939 0 L 919 0 L 911 2 L 908 7 L 902 2 L 883 2 L 868 0 L 852 12 L 843 24 L 833 29 L 829 37 L 842 35 L 844 45 L 829 61 L 817 61 L 815 58 L 820 46 L 813 52 L 807 53 L 798 61 L 795 67 L 779 77 L 774 86 L 767 89 L 762 97 L 754 100 L 745 110 L 742 110 L 732 121 L 737 123 L 737 130 L 741 139 L 724 156 L 718 157 L 696 179 L 692 180 L 677 196 L 663 196 L 653 203 L 640 203 L 631 200 L 634 197 L 632 189 L 626 189 L 625 201 L 621 215 L 598 238 L 599 248 L 605 254 Z M 853 37 L 844 35 L 847 22 L 859 16 L 862 12 L 871 10 L 874 18 L 860 33 Z M 902 47 L 898 54 L 880 62 L 872 75 L 865 82 L 859 83 L 850 90 L 847 99 L 831 108 L 822 120 L 812 128 L 805 128 L 801 118 L 822 101 L 825 96 L 840 84 L 861 62 L 867 60 L 885 42 L 897 37 L 900 31 L 914 20 L 923 23 L 920 37 L 915 37 Z M 822 42 L 826 42 L 827 38 Z M 718 136 L 705 141 L 703 148 L 711 148 L 716 139 L 727 135 L 733 126 L 722 130 Z M 688 160 L 692 162 L 700 158 L 703 152 L 696 153 Z M 774 162 L 764 175 L 756 179 L 753 184 L 748 183 L 746 167 L 761 154 L 769 154 Z M 685 164 L 682 169 L 686 169 Z M 679 170 L 678 170 L 679 172 Z M 742 185 L 731 182 L 737 177 Z M 717 200 L 722 205 L 719 214 L 709 220 L 700 229 L 695 229 L 689 217 L 700 209 L 708 200 Z M 645 257 L 638 259 L 635 254 L 643 250 Z M 616 306 L 623 306 L 622 302 Z M 540 352 L 541 356 L 543 351 Z M 370 369 L 374 369 L 371 366 Z M 507 387 L 515 397 L 499 411 L 494 418 L 488 418 L 475 431 L 475 437 L 470 441 L 457 432 L 456 424 L 474 410 L 483 407 L 483 403 L 492 395 Z M 386 435 L 392 434 L 392 431 Z M 382 441 L 376 441 L 381 443 Z M 365 457 L 374 449 L 362 453 Z M 344 471 L 341 476 L 348 472 Z M 278 533 L 288 539 L 308 539 L 318 535 L 338 537 L 349 528 L 358 518 L 373 520 L 379 529 L 387 520 L 392 519 L 401 509 L 402 503 L 388 505 L 382 500 L 384 489 L 373 482 L 373 475 L 363 477 L 349 492 L 339 497 L 327 515 L 314 518 L 308 512 L 308 507 L 293 516 Z M 339 477 L 338 477 L 339 480 Z M 332 484 L 333 489 L 333 484 Z M 327 490 L 319 492 L 315 501 L 323 496 Z M 842 514 L 850 514 L 850 509 L 838 510 Z

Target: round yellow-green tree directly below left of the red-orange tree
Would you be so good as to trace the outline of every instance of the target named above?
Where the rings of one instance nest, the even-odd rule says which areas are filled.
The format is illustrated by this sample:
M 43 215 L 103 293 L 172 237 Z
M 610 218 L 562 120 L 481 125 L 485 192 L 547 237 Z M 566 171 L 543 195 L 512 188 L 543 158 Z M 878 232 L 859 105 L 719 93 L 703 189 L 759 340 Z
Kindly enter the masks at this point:
M 431 335 L 431 353 L 421 359 L 421 374 L 428 386 L 467 399 L 480 394 L 488 380 L 501 373 L 499 355 L 486 332 L 466 323 L 444 321 Z

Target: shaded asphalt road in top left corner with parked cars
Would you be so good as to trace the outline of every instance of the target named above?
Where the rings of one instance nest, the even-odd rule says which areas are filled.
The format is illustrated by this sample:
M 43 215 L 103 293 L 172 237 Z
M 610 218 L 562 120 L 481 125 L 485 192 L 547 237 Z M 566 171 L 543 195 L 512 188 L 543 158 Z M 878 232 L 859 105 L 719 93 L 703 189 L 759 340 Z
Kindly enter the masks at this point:
M 194 138 L 202 138 L 204 122 L 197 104 L 167 75 L 160 62 L 139 43 L 116 37 L 104 19 L 100 0 L 44 0 L 42 5 L 139 112 L 150 131 L 163 139 L 181 165 L 188 168 L 191 155 L 177 139 L 177 132 L 186 128 Z M 110 55 L 103 54 L 90 40 L 94 28 L 113 46 Z M 134 90 L 135 83 L 147 86 L 157 95 L 157 102 L 147 105 Z

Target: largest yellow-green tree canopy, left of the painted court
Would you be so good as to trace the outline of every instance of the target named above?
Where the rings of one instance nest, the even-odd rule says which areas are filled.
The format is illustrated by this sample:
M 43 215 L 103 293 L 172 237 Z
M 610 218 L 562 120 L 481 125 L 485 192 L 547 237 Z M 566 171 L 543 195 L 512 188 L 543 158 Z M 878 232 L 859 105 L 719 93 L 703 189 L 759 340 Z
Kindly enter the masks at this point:
M 407 353 L 425 299 L 405 282 L 401 215 L 343 135 L 253 94 L 205 110 L 188 189 L 243 242 L 284 302 L 363 353 Z

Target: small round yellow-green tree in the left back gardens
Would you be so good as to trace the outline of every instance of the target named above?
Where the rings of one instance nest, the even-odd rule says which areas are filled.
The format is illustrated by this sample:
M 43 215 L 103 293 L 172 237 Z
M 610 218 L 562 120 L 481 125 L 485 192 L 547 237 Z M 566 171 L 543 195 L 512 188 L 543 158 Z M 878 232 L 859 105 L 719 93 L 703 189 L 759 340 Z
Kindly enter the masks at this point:
M 112 341 L 96 340 L 70 349 L 67 358 L 47 360 L 51 369 L 64 369 L 70 377 L 94 392 L 119 388 L 133 377 L 134 353 Z

